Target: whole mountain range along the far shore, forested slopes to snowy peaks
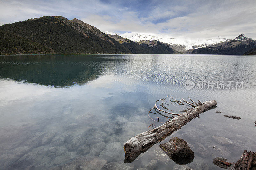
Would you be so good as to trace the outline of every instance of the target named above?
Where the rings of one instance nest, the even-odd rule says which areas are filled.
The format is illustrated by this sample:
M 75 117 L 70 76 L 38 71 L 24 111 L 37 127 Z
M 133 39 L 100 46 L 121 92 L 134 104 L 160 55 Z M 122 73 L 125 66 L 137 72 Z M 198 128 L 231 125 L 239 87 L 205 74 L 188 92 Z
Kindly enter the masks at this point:
M 255 54 L 256 41 L 190 40 L 151 33 L 101 32 L 78 19 L 44 16 L 0 26 L 0 54 Z

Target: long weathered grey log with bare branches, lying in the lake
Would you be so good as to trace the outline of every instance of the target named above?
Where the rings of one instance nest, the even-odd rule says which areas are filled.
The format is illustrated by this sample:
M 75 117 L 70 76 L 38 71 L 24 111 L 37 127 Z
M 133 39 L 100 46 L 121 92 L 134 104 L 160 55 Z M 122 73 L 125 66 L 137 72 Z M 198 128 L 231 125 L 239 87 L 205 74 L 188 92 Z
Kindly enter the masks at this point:
M 151 146 L 161 142 L 165 137 L 180 129 L 183 125 L 198 117 L 199 114 L 205 112 L 207 109 L 215 105 L 217 105 L 215 100 L 206 101 L 155 129 L 148 130 L 132 137 L 130 140 L 124 143 L 124 162 L 131 163 L 141 153 L 146 152 Z

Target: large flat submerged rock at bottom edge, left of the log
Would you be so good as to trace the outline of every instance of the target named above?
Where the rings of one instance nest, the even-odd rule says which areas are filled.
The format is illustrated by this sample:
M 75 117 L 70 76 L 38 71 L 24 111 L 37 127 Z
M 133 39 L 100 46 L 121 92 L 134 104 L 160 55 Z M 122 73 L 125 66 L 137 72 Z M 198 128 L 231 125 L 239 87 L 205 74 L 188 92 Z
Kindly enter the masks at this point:
M 64 165 L 53 167 L 52 170 L 87 170 L 87 169 L 94 169 L 100 170 L 105 164 L 107 163 L 106 160 L 100 159 L 99 157 L 79 157 L 69 163 Z

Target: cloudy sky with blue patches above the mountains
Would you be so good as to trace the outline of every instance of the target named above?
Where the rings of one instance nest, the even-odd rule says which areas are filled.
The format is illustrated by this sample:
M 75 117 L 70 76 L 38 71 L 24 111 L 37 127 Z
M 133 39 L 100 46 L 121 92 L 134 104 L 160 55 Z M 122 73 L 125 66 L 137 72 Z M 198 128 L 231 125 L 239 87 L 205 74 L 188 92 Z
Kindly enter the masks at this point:
M 0 25 L 47 15 L 101 31 L 256 39 L 256 0 L 0 0 Z

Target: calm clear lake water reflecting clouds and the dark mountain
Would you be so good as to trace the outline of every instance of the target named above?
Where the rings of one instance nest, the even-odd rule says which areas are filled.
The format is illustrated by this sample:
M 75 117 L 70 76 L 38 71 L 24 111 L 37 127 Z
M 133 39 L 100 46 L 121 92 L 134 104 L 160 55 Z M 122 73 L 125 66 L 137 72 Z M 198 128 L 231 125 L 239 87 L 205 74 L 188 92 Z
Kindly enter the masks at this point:
M 135 170 L 150 161 L 154 169 L 218 169 L 217 156 L 236 162 L 256 151 L 255 55 L 0 55 L 0 76 L 0 169 L 47 169 L 83 156 L 88 169 L 118 161 Z M 155 144 L 124 164 L 124 142 L 148 130 L 148 111 L 168 95 L 218 103 L 161 142 L 184 139 L 193 162 L 178 165 Z

